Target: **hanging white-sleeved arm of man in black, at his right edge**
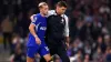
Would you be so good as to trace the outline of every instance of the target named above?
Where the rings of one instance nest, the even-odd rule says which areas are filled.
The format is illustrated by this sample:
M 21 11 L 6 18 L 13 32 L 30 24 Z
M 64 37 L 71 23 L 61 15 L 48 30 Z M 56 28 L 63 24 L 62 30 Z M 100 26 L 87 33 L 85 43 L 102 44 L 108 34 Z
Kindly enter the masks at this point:
M 70 43 L 70 39 L 69 39 L 69 19 L 68 19 L 67 16 L 64 17 L 64 19 L 65 19 L 64 35 L 65 35 L 67 45 L 69 46 L 69 43 Z

